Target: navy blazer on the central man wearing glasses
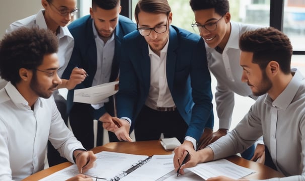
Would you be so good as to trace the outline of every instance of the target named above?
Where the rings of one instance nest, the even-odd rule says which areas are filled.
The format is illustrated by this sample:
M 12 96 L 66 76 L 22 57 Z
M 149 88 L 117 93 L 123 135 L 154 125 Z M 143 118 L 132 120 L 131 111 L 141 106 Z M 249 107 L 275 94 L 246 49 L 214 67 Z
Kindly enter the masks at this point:
M 132 130 L 148 96 L 150 58 L 148 45 L 138 31 L 124 37 L 121 50 L 117 114 L 131 119 Z M 211 77 L 202 38 L 170 26 L 166 74 L 175 105 L 189 126 L 186 136 L 198 142 L 208 120 L 213 121 L 208 119 L 212 113 Z

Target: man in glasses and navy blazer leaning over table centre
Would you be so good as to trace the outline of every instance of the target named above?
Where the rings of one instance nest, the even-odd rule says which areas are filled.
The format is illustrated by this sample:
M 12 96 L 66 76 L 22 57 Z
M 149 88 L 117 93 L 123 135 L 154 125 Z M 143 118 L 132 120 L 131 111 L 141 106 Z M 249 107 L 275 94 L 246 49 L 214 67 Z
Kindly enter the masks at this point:
M 166 0 L 140 0 L 138 31 L 122 41 L 117 115 L 104 123 L 120 140 L 177 137 L 178 149 L 196 149 L 204 127 L 212 128 L 211 79 L 203 40 L 171 26 Z M 210 117 L 211 116 L 211 117 Z M 210 118 L 210 119 L 209 119 Z

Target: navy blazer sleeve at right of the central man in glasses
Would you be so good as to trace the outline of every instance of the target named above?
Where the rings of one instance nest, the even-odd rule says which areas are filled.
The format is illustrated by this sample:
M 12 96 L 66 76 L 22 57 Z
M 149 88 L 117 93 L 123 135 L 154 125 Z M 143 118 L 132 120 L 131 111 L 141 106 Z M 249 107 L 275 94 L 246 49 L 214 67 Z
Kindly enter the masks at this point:
M 198 142 L 204 127 L 208 122 L 213 121 L 210 119 L 212 118 L 210 115 L 213 113 L 211 77 L 202 38 L 198 41 L 197 46 L 194 47 L 190 76 L 194 106 L 186 136 L 191 136 Z

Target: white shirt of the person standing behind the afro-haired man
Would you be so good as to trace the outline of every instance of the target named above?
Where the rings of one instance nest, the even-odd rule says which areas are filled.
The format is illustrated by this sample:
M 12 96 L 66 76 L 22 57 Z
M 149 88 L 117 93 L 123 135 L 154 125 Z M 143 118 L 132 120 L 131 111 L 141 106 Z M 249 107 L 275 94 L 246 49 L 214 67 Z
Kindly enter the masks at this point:
M 44 10 L 40 10 L 36 15 L 32 15 L 22 20 L 18 20 L 10 25 L 10 28 L 6 30 L 6 33 L 10 33 L 20 27 L 38 27 L 43 29 L 48 29 L 46 21 L 43 16 Z M 61 77 L 64 69 L 66 68 L 74 46 L 74 39 L 69 32 L 68 28 L 59 27 L 59 33 L 56 35 L 58 39 L 58 61 L 59 61 L 59 69 L 58 75 Z M 0 87 L 2 88 L 2 87 Z

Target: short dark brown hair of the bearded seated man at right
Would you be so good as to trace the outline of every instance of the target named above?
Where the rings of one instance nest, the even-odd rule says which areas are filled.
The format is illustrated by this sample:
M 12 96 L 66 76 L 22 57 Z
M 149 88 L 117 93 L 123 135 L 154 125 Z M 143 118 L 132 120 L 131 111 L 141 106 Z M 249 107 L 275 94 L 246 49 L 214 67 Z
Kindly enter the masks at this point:
M 242 51 L 253 52 L 253 63 L 266 68 L 272 60 L 278 62 L 283 73 L 290 73 L 292 45 L 281 31 L 269 27 L 245 32 L 239 41 Z

